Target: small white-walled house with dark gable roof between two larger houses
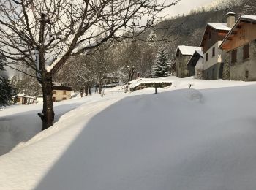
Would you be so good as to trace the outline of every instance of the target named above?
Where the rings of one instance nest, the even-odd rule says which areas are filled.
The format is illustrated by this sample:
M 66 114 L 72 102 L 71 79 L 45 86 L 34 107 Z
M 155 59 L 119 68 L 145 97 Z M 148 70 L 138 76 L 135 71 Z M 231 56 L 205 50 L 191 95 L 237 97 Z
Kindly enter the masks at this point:
M 193 56 L 187 63 L 189 69 L 189 76 L 195 76 L 195 78 L 203 78 L 203 51 L 196 50 Z

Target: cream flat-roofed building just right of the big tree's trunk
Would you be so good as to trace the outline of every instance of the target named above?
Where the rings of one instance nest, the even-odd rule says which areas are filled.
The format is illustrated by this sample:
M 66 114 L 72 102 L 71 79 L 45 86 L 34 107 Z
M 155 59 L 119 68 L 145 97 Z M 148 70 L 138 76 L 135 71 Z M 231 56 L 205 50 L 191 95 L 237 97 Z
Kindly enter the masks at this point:
M 71 86 L 53 84 L 53 102 L 59 102 L 71 98 Z

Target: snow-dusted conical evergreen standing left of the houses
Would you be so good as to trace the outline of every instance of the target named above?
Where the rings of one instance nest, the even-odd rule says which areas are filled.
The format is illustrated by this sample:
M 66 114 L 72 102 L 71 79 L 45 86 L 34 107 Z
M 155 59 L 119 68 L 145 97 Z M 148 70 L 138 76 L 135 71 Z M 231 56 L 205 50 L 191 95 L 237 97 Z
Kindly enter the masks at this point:
M 157 54 L 157 59 L 152 67 L 151 77 L 167 77 L 170 76 L 170 61 L 165 52 L 161 48 Z

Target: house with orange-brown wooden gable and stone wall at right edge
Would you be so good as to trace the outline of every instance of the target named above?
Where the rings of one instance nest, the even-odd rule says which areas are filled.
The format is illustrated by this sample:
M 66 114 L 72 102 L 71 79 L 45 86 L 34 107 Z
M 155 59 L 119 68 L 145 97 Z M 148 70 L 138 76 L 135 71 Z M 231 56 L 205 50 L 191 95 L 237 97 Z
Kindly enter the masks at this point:
M 238 18 L 219 48 L 229 55 L 231 80 L 256 80 L 256 15 Z

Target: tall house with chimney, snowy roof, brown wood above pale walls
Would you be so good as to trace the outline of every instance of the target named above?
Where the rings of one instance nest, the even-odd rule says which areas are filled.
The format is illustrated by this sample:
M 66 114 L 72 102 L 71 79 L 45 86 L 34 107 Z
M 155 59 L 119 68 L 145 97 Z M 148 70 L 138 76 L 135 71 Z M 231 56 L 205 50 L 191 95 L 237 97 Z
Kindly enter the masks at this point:
M 223 62 L 226 53 L 219 50 L 219 45 L 235 23 L 235 13 L 227 13 L 227 23 L 208 23 L 200 47 L 203 48 L 203 79 L 222 78 Z

